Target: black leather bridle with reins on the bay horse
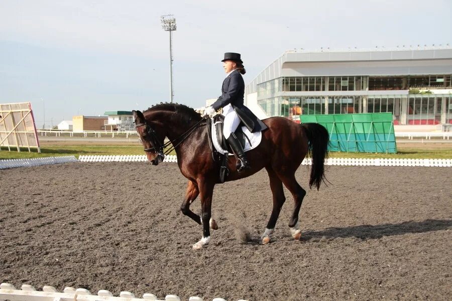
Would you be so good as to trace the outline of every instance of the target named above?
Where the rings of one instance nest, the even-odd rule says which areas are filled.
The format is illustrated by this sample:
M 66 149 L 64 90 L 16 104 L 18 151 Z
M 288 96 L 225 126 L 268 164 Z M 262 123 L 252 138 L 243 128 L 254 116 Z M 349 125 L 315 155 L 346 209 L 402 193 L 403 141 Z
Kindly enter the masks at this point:
M 144 151 L 146 153 L 155 153 L 163 161 L 163 159 L 165 158 L 165 155 L 168 155 L 169 153 L 171 153 L 173 151 L 173 149 L 175 149 L 177 147 L 177 145 L 182 143 L 196 128 L 199 127 L 199 124 L 201 123 L 201 121 L 206 119 L 206 117 L 207 117 L 207 115 L 202 117 L 201 120 L 196 122 L 195 125 L 190 127 L 187 131 L 185 131 L 179 137 L 174 139 L 173 142 L 168 141 L 168 142 L 163 143 L 163 144 L 160 143 L 159 139 L 157 138 L 157 132 L 155 131 L 155 129 L 153 129 L 146 121 L 144 121 L 142 123 L 135 124 L 135 127 L 138 128 L 140 126 L 146 126 L 145 130 L 148 133 L 149 138 L 145 138 L 145 140 L 147 140 L 151 144 L 151 147 L 145 148 Z M 177 142 L 176 144 L 174 144 L 174 142 L 179 140 L 179 139 L 180 139 L 180 141 Z M 171 143 L 173 143 L 173 146 L 171 146 L 165 152 L 165 148 L 168 147 Z

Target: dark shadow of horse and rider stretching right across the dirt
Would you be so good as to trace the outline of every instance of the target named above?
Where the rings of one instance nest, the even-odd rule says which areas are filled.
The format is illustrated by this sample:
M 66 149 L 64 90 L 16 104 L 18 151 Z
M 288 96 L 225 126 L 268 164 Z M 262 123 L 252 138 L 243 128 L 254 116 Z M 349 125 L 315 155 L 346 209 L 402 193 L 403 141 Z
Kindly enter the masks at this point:
M 358 239 L 378 239 L 383 236 L 403 235 L 407 233 L 424 233 L 437 230 L 446 230 L 452 227 L 452 220 L 427 219 L 421 222 L 402 222 L 399 224 L 359 225 L 343 228 L 326 228 L 324 230 L 307 230 L 301 233 L 303 242 L 323 242 L 334 238 L 356 237 Z M 259 242 L 259 238 L 253 237 L 245 243 Z

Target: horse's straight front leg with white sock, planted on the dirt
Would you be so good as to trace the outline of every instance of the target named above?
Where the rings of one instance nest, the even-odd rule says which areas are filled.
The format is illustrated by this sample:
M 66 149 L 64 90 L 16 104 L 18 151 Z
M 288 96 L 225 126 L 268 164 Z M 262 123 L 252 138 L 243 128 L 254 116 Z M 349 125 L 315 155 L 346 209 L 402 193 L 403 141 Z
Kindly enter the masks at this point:
M 202 221 L 202 238 L 193 245 L 193 249 L 202 249 L 210 242 L 209 222 L 211 218 L 212 195 L 215 184 L 205 182 L 204 179 L 198 181 L 199 195 L 201 197 L 201 221 Z

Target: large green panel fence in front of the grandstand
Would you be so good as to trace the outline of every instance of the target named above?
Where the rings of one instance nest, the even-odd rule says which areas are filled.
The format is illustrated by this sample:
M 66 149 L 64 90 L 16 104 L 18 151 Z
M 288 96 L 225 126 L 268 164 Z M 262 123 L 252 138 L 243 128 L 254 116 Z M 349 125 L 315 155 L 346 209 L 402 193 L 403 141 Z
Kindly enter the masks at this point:
M 331 152 L 397 153 L 392 113 L 300 115 L 301 123 L 320 123 Z

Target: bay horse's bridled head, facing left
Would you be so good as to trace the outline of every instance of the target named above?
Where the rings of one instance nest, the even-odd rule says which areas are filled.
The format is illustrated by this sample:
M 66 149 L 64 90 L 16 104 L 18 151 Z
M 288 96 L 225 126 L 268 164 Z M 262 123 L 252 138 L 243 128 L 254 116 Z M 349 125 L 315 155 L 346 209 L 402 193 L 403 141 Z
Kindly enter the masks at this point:
M 163 129 L 160 125 L 146 120 L 141 111 L 133 110 L 132 114 L 135 118 L 135 128 L 137 129 L 138 137 L 143 143 L 148 161 L 152 165 L 158 165 L 160 162 L 163 162 L 163 158 L 165 157 L 163 154 L 165 140 Z

